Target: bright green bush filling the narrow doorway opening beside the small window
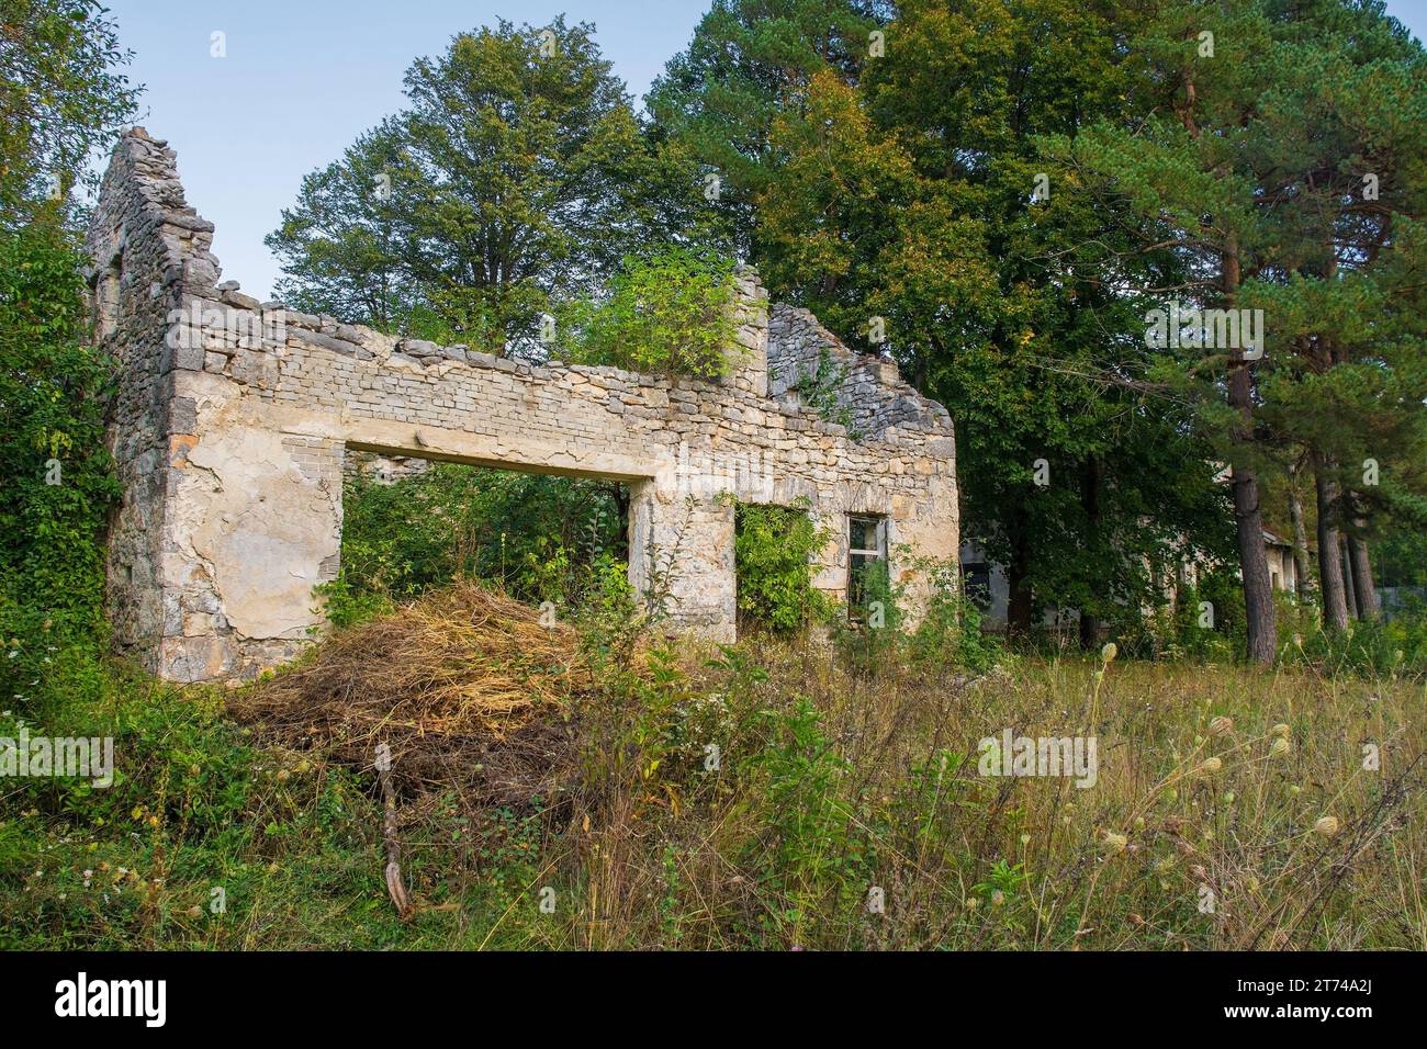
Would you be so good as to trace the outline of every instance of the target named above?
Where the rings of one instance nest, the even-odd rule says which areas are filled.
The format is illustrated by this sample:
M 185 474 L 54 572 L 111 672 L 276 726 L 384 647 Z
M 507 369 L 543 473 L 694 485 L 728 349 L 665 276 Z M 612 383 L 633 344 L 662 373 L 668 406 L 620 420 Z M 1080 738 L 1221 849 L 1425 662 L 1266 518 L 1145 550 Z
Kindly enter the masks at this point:
M 812 558 L 832 538 L 808 515 L 806 502 L 735 508 L 733 571 L 738 612 L 773 632 L 798 631 L 826 611 L 812 585 Z

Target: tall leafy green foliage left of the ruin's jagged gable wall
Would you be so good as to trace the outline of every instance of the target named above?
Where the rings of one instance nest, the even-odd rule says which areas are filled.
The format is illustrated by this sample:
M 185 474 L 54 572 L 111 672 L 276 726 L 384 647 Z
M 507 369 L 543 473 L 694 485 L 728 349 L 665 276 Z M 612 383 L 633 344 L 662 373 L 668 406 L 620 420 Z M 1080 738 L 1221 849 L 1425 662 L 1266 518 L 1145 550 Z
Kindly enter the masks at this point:
M 0 695 L 53 705 L 54 665 L 104 639 L 111 364 L 88 345 L 70 191 L 134 108 L 93 0 L 0 0 Z

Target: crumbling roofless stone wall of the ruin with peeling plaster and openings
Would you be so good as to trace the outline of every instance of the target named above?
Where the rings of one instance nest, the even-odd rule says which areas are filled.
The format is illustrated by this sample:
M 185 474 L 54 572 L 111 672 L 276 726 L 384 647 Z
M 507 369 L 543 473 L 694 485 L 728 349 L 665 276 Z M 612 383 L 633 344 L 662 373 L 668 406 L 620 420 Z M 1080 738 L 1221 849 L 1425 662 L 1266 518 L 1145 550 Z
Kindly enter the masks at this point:
M 771 340 L 752 271 L 735 288 L 733 368 L 711 384 L 537 365 L 261 304 L 217 284 L 211 237 L 173 150 L 126 134 L 90 234 L 97 308 L 116 317 L 101 337 L 123 363 L 108 594 L 118 644 L 163 676 L 250 676 L 308 642 L 323 622 L 313 587 L 338 568 L 348 450 L 628 482 L 632 582 L 662 579 L 674 622 L 722 641 L 735 629 L 729 497 L 805 500 L 836 537 L 816 572 L 835 598 L 848 514 L 888 518 L 893 578 L 913 595 L 912 555 L 956 555 L 945 408 L 805 311 L 775 307 Z M 856 440 L 771 380 L 781 358 L 819 350 L 849 365 Z

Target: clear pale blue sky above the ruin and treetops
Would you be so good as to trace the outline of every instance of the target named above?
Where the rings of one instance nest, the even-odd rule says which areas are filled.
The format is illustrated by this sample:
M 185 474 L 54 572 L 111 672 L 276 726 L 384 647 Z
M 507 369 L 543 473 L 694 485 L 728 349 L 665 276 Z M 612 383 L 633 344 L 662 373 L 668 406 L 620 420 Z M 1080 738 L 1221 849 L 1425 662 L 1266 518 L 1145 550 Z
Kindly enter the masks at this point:
M 225 280 L 260 298 L 278 277 L 263 237 L 304 174 L 401 108 L 411 60 L 505 17 L 592 21 L 615 73 L 642 97 L 688 43 L 709 0 L 108 0 L 144 84 L 140 118 L 178 151 L 188 203 L 217 224 Z M 1427 0 L 1388 0 L 1427 39 Z M 227 57 L 210 54 L 215 30 Z

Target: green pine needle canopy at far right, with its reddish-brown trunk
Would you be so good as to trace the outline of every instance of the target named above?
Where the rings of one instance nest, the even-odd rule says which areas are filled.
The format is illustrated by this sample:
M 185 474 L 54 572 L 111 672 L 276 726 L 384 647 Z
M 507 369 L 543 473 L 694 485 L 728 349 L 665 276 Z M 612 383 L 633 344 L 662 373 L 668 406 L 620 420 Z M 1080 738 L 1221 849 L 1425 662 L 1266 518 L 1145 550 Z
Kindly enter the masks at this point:
M 1152 373 L 1194 405 L 1196 432 L 1234 467 L 1241 562 L 1263 565 L 1257 475 L 1304 451 L 1327 491 L 1326 525 L 1420 522 L 1420 43 L 1381 4 L 1233 0 L 1164 4 L 1129 47 L 1152 71 L 1130 94 L 1133 117 L 1047 150 L 1133 217 L 1142 253 L 1174 245 L 1194 274 L 1184 297 L 1263 311 L 1254 364 L 1240 367 L 1240 347 L 1183 345 L 1162 348 Z M 1364 485 L 1367 458 L 1381 484 Z M 1249 649 L 1264 659 L 1273 608 L 1249 598 Z

